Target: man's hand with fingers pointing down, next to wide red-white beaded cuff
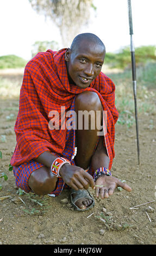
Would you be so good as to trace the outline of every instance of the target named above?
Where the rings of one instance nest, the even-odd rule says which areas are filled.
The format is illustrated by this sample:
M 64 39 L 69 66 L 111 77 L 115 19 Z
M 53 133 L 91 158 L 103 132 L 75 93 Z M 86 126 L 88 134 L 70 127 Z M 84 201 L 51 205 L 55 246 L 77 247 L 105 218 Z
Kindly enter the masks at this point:
M 65 163 L 59 171 L 64 182 L 74 190 L 87 190 L 89 186 L 95 189 L 95 182 L 92 176 L 83 168 Z

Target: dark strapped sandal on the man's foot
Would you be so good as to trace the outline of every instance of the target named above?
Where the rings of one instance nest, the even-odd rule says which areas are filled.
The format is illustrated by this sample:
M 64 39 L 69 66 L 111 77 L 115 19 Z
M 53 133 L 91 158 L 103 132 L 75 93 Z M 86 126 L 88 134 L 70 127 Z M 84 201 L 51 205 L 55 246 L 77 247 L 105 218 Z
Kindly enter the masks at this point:
M 73 194 L 77 194 L 76 197 L 72 197 Z M 85 197 L 86 199 L 91 199 L 92 200 L 92 204 L 90 206 L 88 206 L 86 209 L 80 209 L 78 208 L 78 206 L 75 204 L 77 200 L 81 199 Z M 88 190 L 74 190 L 73 188 L 71 189 L 71 194 L 70 194 L 70 198 L 71 198 L 71 204 L 74 206 L 75 209 L 77 209 L 78 211 L 86 211 L 91 209 L 94 205 L 95 205 L 95 200 L 92 198 L 91 194 L 88 192 Z

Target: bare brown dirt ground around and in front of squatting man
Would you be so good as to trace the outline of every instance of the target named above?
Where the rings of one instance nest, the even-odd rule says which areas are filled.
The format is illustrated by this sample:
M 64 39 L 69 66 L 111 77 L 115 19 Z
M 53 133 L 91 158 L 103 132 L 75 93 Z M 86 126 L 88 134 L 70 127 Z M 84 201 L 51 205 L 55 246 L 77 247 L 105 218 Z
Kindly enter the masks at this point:
M 108 199 L 95 198 L 93 209 L 78 212 L 70 204 L 68 190 L 55 198 L 19 193 L 8 170 L 16 145 L 17 113 L 18 99 L 1 100 L 0 173 L 8 176 L 7 181 L 0 179 L 1 245 L 155 245 L 155 115 L 139 115 L 140 166 L 135 124 L 130 129 L 116 125 L 112 173 L 126 180 L 132 192 L 116 188 Z M 136 205 L 140 206 L 130 209 Z

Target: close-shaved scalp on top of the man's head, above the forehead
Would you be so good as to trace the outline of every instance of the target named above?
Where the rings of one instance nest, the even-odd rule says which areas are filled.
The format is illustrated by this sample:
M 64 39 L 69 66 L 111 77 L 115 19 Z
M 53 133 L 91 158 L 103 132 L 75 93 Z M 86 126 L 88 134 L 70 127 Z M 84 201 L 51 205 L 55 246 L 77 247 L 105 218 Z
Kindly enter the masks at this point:
M 72 44 L 70 47 L 71 51 L 73 52 L 80 46 L 82 42 L 86 42 L 86 41 L 93 43 L 96 46 L 101 46 L 103 48 L 103 51 L 105 52 L 105 46 L 101 41 L 101 39 L 99 39 L 97 35 L 92 33 L 83 33 L 83 34 L 77 35 L 72 41 Z

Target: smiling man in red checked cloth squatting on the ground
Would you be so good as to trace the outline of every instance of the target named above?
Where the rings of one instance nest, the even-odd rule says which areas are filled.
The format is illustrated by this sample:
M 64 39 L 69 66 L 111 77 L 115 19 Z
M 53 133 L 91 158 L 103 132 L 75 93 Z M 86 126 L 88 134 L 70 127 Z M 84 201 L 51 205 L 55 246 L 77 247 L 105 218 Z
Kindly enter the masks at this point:
M 110 172 L 118 112 L 115 85 L 101 72 L 104 57 L 103 42 L 95 34 L 84 33 L 74 38 L 71 48 L 38 53 L 28 62 L 15 124 L 17 144 L 10 162 L 17 187 L 49 196 L 71 188 L 71 203 L 77 210 L 95 204 L 89 186 L 102 199 L 117 186 L 131 191 Z M 104 124 L 103 111 L 107 111 L 107 132 L 98 136 L 97 127 L 91 129 L 90 115 L 88 130 L 49 129 L 49 113 L 57 111 L 60 118 L 61 107 L 76 112 L 77 127 L 79 111 L 101 113 L 97 127 Z

